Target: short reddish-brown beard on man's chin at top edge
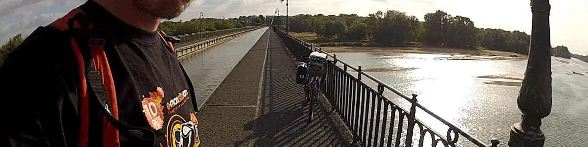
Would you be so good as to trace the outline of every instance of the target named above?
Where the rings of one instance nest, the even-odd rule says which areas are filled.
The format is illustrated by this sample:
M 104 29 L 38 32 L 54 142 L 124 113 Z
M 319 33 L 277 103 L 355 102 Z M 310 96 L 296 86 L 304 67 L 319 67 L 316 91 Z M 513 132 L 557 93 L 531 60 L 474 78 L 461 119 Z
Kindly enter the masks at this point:
M 192 0 L 135 0 L 139 9 L 163 19 L 173 19 L 182 14 L 188 8 Z

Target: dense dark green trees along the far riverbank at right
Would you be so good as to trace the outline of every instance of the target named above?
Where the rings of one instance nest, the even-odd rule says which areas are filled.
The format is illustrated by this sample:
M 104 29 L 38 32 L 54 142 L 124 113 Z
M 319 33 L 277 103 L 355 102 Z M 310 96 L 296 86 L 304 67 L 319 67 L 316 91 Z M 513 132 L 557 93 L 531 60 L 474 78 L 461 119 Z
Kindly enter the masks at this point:
M 524 32 L 476 28 L 469 18 L 452 16 L 440 10 L 426 14 L 424 18 L 419 21 L 416 16 L 395 10 L 377 11 L 368 16 L 300 14 L 292 16 L 288 25 L 290 31 L 316 32 L 318 36 L 339 40 L 529 52 L 530 36 Z

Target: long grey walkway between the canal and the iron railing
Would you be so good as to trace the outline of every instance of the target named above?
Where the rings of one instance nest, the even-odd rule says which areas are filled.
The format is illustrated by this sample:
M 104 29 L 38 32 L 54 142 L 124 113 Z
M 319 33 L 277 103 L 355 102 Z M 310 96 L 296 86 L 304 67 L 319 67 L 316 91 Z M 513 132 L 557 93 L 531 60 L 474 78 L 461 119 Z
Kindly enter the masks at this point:
M 198 113 L 201 146 L 342 146 L 325 109 L 307 123 L 295 68 L 268 29 Z

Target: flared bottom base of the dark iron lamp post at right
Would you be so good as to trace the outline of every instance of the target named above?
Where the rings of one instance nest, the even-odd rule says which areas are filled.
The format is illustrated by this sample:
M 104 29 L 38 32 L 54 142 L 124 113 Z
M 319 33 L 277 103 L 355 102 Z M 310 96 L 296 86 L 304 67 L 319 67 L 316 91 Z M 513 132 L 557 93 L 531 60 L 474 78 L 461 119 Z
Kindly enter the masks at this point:
M 543 147 L 545 135 L 539 130 L 539 133 L 533 131 L 524 131 L 520 122 L 510 126 L 510 147 Z

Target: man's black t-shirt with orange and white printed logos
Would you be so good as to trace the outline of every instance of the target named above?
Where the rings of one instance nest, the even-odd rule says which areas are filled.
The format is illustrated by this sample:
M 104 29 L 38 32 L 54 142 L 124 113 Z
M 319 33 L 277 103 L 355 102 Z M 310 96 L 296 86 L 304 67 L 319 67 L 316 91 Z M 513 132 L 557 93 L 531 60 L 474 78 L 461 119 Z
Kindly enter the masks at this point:
M 193 89 L 157 32 L 128 25 L 94 1 L 79 8 L 106 40 L 119 121 L 151 129 L 155 146 L 199 143 Z M 0 65 L 0 117 L 9 146 L 76 146 L 80 85 L 67 38 L 55 28 L 39 27 Z M 89 146 L 99 145 L 102 125 L 92 107 L 90 117 Z M 121 146 L 137 145 L 120 138 Z

